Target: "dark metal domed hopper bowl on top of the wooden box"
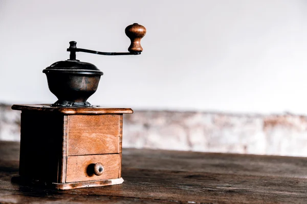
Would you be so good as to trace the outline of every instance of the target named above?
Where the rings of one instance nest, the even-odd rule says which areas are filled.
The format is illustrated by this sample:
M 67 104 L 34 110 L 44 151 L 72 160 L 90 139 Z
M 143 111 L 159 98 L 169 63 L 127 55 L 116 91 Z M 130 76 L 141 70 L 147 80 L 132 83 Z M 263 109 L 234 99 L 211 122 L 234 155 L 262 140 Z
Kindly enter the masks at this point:
M 52 106 L 92 106 L 86 100 L 95 93 L 103 72 L 95 65 L 78 60 L 59 61 L 42 70 L 50 91 L 58 98 Z

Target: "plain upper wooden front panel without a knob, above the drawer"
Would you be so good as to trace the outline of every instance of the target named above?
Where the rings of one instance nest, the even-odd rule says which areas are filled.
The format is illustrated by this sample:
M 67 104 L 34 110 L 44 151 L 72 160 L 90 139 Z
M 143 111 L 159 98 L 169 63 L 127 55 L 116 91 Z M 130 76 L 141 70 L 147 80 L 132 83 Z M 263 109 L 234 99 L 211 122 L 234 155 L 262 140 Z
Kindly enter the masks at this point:
M 68 156 L 119 153 L 120 115 L 69 115 Z

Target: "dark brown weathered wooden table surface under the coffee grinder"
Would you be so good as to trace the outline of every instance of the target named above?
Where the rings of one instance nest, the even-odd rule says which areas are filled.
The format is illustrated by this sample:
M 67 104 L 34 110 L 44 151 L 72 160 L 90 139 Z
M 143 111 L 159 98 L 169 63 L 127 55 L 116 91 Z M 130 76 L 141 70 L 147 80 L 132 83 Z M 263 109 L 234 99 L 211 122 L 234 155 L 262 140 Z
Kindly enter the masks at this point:
M 123 149 L 123 184 L 68 191 L 12 183 L 18 160 L 0 142 L 0 203 L 307 203 L 307 158 Z

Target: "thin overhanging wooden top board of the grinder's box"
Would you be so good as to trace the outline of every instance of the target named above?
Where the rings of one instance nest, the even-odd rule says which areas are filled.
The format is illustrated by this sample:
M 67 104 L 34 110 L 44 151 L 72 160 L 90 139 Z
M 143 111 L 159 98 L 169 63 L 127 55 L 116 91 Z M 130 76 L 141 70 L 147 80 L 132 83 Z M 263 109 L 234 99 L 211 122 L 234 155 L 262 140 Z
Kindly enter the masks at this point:
M 51 107 L 50 104 L 13 105 L 12 109 L 19 110 L 19 111 L 29 110 L 29 111 L 53 112 L 53 113 L 61 113 L 65 115 L 133 113 L 133 110 L 129 108 L 108 108 L 108 107 L 101 107 L 101 106 L 63 108 L 63 107 Z

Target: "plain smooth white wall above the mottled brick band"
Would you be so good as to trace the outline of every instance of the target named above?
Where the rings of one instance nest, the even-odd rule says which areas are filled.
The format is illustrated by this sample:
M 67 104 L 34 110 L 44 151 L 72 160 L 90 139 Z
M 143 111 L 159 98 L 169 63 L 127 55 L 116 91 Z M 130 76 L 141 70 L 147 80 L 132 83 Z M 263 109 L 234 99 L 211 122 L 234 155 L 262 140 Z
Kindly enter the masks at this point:
M 0 101 L 53 103 L 41 71 L 69 58 L 68 42 L 125 52 L 134 22 L 142 55 L 77 55 L 104 72 L 90 103 L 307 114 L 304 0 L 0 0 Z

